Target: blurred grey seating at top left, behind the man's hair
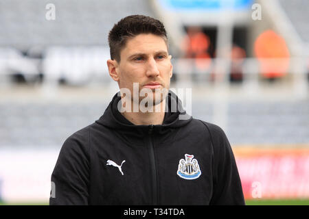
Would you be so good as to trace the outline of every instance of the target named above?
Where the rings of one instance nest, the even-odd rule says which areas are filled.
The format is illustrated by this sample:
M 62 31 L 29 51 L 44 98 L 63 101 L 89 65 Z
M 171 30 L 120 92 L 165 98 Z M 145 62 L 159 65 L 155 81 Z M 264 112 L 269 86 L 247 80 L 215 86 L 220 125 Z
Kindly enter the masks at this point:
M 47 3 L 55 5 L 55 20 L 45 16 Z M 144 0 L 3 0 L 0 1 L 0 47 L 107 45 L 108 31 L 130 14 L 154 16 Z

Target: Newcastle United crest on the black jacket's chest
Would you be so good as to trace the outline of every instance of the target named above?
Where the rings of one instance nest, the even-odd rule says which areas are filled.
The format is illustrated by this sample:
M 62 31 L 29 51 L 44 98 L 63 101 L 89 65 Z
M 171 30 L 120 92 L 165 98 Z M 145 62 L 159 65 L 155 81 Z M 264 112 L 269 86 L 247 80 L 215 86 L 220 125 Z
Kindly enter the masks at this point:
M 179 160 L 177 175 L 183 179 L 197 179 L 201 176 L 198 161 L 193 159 L 194 155 L 185 154 L 185 159 Z

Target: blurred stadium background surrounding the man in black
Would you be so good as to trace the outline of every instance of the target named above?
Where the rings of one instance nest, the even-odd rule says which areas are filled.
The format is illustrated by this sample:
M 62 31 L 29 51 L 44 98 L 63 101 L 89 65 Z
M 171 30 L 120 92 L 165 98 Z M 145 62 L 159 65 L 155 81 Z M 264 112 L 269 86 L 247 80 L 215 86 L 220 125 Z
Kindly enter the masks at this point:
M 192 116 L 227 134 L 247 204 L 309 205 L 308 9 L 308 0 L 0 0 L 0 203 L 48 204 L 63 142 L 117 92 L 108 31 L 144 14 L 168 31 L 171 88 L 192 89 Z

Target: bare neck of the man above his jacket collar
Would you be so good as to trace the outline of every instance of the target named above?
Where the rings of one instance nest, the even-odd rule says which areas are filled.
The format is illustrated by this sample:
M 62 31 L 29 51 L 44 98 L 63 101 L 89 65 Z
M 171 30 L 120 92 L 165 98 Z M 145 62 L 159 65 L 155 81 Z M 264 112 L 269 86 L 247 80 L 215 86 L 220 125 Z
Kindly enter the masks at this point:
M 133 104 L 133 103 L 132 103 Z M 152 112 L 122 112 L 122 116 L 129 120 L 134 125 L 161 125 L 163 124 L 164 115 L 165 115 L 165 101 L 159 103 L 159 112 L 155 111 L 155 106 L 153 107 Z

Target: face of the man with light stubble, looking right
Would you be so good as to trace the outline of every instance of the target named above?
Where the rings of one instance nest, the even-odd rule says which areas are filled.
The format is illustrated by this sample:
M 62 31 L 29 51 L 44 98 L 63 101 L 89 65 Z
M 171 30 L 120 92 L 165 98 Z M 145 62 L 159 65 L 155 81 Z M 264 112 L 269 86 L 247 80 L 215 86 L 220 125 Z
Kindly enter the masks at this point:
M 128 88 L 133 99 L 133 83 L 139 84 L 139 92 L 143 88 L 152 91 L 153 103 L 158 104 L 165 99 L 155 95 L 155 89 L 170 88 L 172 77 L 171 56 L 165 40 L 154 34 L 139 34 L 128 39 L 120 53 L 121 61 L 116 64 L 115 71 L 119 78 L 119 88 Z M 144 99 L 139 97 L 139 101 Z

